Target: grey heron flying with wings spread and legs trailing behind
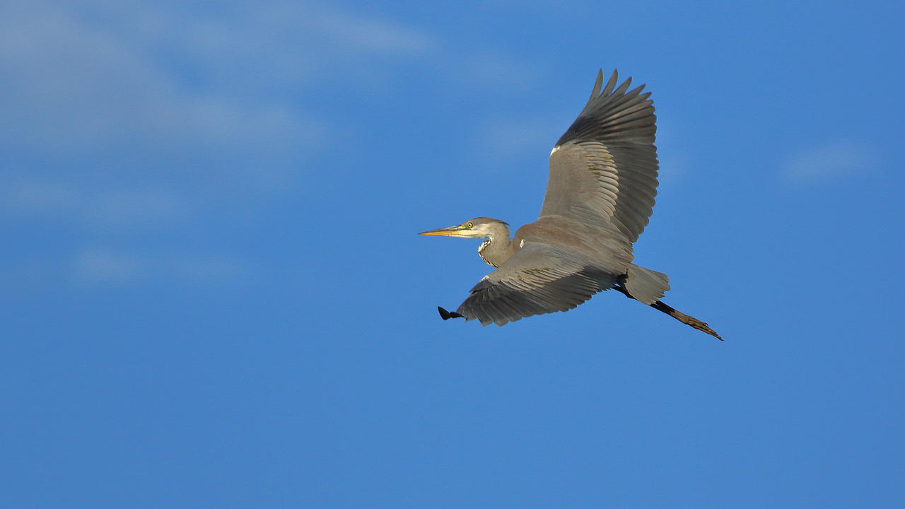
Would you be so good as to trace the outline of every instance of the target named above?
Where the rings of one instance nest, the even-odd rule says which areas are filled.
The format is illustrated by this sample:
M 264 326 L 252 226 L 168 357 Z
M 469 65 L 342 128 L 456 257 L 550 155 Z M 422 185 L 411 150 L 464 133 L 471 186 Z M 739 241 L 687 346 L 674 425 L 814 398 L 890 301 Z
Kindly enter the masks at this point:
M 472 288 L 455 312 L 504 325 L 526 316 L 568 311 L 595 293 L 614 288 L 676 320 L 715 331 L 662 303 L 669 276 L 633 264 L 632 244 L 647 226 L 657 195 L 656 116 L 644 85 L 616 88 L 614 71 L 601 91 L 597 72 L 591 99 L 550 152 L 547 194 L 538 220 L 510 239 L 499 219 L 475 217 L 461 225 L 422 232 L 486 239 L 478 255 L 497 267 Z

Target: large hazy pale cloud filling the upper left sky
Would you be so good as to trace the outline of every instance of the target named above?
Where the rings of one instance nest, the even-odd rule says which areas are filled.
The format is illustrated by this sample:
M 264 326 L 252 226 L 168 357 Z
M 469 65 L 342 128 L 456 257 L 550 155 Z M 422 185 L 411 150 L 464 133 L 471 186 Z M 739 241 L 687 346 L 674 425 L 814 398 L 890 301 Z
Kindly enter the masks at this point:
M 144 226 L 190 196 L 283 193 L 335 129 L 306 90 L 438 46 L 337 7 L 248 7 L 0 4 L 0 213 Z

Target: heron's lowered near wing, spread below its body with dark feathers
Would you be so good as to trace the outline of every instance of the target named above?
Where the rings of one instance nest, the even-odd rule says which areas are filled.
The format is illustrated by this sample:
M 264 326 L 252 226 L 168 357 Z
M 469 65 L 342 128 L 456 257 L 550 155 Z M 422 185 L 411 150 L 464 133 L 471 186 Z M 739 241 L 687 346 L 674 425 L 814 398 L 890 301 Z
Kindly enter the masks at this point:
M 472 288 L 456 312 L 465 320 L 503 325 L 526 316 L 568 311 L 612 288 L 615 276 L 553 245 L 527 242 Z

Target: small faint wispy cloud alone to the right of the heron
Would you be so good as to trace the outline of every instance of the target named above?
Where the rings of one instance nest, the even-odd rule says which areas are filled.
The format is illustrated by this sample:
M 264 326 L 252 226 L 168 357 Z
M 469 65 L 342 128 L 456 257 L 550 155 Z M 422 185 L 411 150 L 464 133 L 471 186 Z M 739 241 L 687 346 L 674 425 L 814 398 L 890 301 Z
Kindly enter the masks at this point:
M 783 178 L 797 185 L 825 182 L 862 174 L 876 160 L 876 152 L 866 144 L 835 141 L 787 158 L 782 165 Z

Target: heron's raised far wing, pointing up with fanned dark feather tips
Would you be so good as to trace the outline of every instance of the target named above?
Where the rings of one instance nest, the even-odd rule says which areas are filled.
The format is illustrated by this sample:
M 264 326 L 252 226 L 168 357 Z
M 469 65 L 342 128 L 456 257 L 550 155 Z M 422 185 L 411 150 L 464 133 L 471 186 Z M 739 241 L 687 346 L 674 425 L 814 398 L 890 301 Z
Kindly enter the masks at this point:
M 550 175 L 540 216 L 570 216 L 612 224 L 634 242 L 653 212 L 657 195 L 656 116 L 644 85 L 604 90 L 597 73 L 591 99 L 550 152 Z

